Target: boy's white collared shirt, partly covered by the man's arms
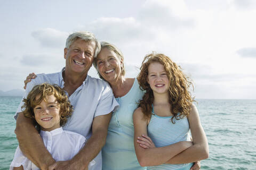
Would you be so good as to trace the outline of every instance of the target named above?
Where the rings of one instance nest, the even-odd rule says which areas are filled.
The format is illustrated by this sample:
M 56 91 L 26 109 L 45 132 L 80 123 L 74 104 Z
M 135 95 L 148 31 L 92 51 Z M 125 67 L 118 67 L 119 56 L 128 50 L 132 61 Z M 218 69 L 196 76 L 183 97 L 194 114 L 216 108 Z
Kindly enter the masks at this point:
M 54 129 L 50 132 L 41 131 L 40 135 L 44 141 L 44 145 L 51 153 L 53 159 L 56 161 L 69 160 L 73 158 L 78 151 L 85 145 L 86 139 L 83 135 L 63 130 L 62 128 Z M 90 162 L 89 167 L 95 164 L 94 159 Z M 19 146 L 17 147 L 14 158 L 10 165 L 10 169 L 13 167 L 23 166 L 26 169 L 39 169 L 33 164 L 27 157 L 23 155 Z

